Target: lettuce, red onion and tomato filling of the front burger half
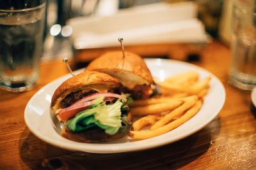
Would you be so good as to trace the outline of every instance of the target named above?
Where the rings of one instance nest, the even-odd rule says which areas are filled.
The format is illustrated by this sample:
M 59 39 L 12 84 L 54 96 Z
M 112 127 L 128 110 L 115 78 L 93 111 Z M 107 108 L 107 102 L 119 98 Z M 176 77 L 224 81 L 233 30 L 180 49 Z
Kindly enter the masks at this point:
M 70 94 L 72 97 L 67 96 L 68 99 L 63 99 L 64 104 L 61 106 L 68 106 L 66 101 L 76 100 L 80 93 Z M 86 95 L 90 93 L 93 91 L 86 92 Z M 56 113 L 69 131 L 81 132 L 100 128 L 104 129 L 106 134 L 113 135 L 131 128 L 131 121 L 127 118 L 129 109 L 126 101 L 124 96 L 118 94 L 97 92 L 79 99 L 67 108 L 57 110 Z

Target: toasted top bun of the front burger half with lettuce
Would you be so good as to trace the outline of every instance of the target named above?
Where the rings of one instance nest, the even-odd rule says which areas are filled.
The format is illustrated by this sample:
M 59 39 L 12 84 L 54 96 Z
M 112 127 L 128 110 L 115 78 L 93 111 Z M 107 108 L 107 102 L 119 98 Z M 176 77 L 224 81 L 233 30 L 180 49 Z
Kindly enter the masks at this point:
M 60 102 L 72 92 L 84 89 L 107 92 L 109 89 L 113 89 L 119 85 L 121 85 L 120 81 L 108 74 L 96 71 L 84 71 L 64 81 L 56 89 L 51 101 L 52 110 L 54 112 L 58 110 L 60 108 Z

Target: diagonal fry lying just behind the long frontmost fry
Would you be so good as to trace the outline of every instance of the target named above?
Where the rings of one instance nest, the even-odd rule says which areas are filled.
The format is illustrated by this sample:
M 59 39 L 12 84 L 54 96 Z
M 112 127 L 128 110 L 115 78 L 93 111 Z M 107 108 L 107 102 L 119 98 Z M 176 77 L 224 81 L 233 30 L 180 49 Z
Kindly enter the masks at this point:
M 183 103 L 178 108 L 171 111 L 170 113 L 164 115 L 164 117 L 161 118 L 160 120 L 158 120 L 156 122 L 156 124 L 152 125 L 152 127 L 150 129 L 157 129 L 159 127 L 162 127 L 163 125 L 171 122 L 173 120 L 173 118 L 179 117 L 179 115 L 182 115 L 182 113 L 184 113 L 184 111 L 188 110 L 193 105 L 195 105 L 197 99 L 198 99 L 197 96 L 186 97 L 185 103 Z

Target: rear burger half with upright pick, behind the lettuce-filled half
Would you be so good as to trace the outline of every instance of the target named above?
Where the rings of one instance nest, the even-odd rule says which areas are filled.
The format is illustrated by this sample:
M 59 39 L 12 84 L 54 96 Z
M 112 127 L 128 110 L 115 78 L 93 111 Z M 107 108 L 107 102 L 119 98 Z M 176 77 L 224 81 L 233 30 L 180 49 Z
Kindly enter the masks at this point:
M 159 87 L 139 55 L 122 51 L 107 52 L 90 62 L 86 71 L 106 73 L 120 80 L 122 85 L 117 92 L 130 94 L 132 99 L 147 99 L 159 94 Z

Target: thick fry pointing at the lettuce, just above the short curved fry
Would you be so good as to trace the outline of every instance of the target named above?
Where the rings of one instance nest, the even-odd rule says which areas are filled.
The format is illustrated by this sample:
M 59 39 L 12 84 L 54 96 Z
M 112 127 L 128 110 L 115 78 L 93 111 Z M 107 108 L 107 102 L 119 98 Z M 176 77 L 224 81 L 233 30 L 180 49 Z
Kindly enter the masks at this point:
M 148 106 L 139 106 L 131 108 L 131 113 L 133 115 L 152 115 L 159 114 L 164 111 L 173 110 L 180 106 L 184 101 L 182 100 L 173 100 L 168 103 L 157 103 L 151 104 Z

